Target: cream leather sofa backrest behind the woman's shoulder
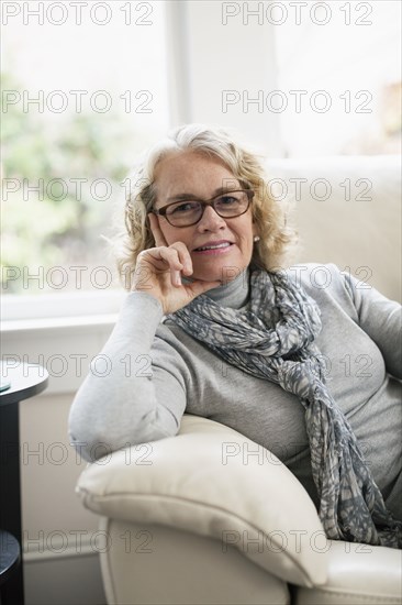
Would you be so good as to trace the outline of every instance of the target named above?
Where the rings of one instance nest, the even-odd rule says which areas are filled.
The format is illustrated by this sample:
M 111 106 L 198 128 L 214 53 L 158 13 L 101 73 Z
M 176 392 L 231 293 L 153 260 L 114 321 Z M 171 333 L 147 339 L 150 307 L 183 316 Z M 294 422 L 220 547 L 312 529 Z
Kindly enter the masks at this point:
M 294 262 L 335 263 L 401 301 L 401 157 L 298 157 L 267 167 L 270 190 L 294 208 Z

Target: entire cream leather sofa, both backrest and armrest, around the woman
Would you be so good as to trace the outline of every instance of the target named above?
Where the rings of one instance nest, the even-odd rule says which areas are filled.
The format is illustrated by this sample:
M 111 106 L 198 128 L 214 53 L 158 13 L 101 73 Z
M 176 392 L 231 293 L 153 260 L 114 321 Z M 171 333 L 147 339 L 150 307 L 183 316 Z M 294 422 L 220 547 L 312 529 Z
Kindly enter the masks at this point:
M 393 156 L 278 160 L 297 261 L 335 262 L 401 296 Z M 185 415 L 175 437 L 89 464 L 77 493 L 100 516 L 109 604 L 397 604 L 402 551 L 331 541 L 308 493 L 268 450 Z

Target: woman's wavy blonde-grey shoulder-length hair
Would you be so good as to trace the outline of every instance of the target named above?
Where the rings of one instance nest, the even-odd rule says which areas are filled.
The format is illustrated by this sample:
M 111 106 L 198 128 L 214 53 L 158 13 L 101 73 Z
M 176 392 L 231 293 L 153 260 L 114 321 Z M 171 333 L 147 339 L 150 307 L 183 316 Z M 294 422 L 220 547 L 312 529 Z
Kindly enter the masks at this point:
M 152 146 L 139 158 L 130 175 L 125 201 L 125 232 L 119 235 L 116 261 L 122 283 L 135 271 L 138 254 L 155 246 L 147 215 L 156 201 L 155 169 L 168 155 L 192 151 L 216 157 L 238 179 L 242 187 L 254 190 L 253 221 L 259 234 L 254 244 L 252 263 L 267 271 L 283 267 L 284 258 L 295 242 L 295 232 L 287 224 L 287 208 L 269 193 L 264 158 L 249 151 L 228 132 L 204 124 L 187 124 Z

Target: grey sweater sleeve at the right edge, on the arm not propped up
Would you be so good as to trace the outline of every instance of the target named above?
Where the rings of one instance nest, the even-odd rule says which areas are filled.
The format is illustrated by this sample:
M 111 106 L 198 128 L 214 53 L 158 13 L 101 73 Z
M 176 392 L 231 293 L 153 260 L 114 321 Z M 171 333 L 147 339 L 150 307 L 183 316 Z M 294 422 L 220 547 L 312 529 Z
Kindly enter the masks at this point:
M 387 371 L 402 378 L 401 305 L 389 300 L 371 285 L 343 273 L 345 286 L 358 315 L 360 328 L 380 349 Z

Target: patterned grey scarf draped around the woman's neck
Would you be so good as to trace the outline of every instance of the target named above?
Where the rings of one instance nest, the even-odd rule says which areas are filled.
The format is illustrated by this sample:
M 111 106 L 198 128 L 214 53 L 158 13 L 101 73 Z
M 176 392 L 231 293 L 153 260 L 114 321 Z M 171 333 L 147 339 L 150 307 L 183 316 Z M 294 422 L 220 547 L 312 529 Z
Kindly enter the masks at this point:
M 402 522 L 387 510 L 357 439 L 325 386 L 314 343 L 320 310 L 301 287 L 284 273 L 255 270 L 246 310 L 201 295 L 168 318 L 228 363 L 300 398 L 320 518 L 330 539 L 402 548 Z

